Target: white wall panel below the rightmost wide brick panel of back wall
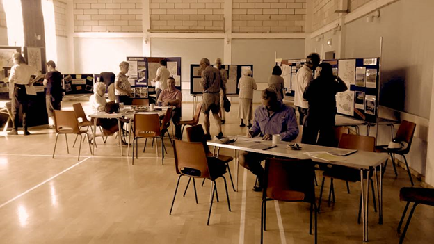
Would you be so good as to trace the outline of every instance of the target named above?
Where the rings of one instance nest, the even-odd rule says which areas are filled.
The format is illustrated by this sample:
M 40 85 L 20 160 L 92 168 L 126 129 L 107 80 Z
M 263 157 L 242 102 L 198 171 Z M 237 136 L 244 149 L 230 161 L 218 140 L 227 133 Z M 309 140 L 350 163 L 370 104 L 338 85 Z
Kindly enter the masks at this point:
M 267 83 L 277 58 L 296 59 L 305 56 L 305 39 L 236 39 L 232 40 L 232 64 L 253 65 L 253 78 Z M 260 91 L 266 84 L 258 84 L 253 102 L 260 102 Z M 234 100 L 235 101 L 235 100 Z

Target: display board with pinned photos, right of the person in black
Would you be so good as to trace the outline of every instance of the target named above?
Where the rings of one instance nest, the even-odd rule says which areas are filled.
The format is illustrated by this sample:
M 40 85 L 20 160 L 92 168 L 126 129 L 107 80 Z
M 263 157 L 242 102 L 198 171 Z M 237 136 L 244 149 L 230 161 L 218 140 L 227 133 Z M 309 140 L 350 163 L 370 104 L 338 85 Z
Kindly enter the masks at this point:
M 380 58 L 348 58 L 323 62 L 330 63 L 333 74 L 337 74 L 348 86 L 346 92 L 336 95 L 337 113 L 376 122 Z

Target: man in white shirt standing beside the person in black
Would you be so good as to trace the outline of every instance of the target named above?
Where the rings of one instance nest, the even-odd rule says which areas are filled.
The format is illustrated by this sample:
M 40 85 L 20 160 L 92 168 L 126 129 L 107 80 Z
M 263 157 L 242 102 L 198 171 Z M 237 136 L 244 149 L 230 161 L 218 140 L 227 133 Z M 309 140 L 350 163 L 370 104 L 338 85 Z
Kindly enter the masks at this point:
M 305 65 L 303 65 L 296 74 L 296 95 L 294 97 L 294 105 L 300 115 L 298 123 L 300 125 L 303 124 L 307 115 L 307 108 L 309 108 L 307 101 L 303 99 L 303 93 L 305 92 L 306 86 L 314 79 L 313 71 L 319 65 L 319 61 L 319 54 L 309 54 L 306 57 Z

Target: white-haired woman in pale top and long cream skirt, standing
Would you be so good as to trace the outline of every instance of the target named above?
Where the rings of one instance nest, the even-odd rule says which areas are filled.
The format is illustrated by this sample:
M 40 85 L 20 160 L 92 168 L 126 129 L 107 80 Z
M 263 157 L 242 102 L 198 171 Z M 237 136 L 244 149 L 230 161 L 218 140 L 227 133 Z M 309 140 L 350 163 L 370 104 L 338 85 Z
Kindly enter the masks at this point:
M 251 127 L 253 117 L 253 90 L 257 89 L 255 79 L 252 78 L 251 70 L 244 70 L 239 83 L 239 110 L 238 117 L 241 119 L 240 127 L 245 127 L 243 120 L 247 120 L 247 127 Z

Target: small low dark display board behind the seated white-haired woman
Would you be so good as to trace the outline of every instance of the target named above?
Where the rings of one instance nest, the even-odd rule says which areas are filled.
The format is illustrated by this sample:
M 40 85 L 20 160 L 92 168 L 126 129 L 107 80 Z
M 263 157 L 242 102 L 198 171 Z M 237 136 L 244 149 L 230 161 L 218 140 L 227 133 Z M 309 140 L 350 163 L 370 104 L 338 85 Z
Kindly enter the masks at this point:
M 65 95 L 93 94 L 93 74 L 63 74 Z

